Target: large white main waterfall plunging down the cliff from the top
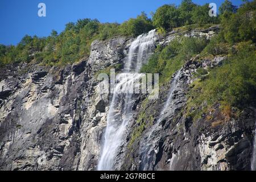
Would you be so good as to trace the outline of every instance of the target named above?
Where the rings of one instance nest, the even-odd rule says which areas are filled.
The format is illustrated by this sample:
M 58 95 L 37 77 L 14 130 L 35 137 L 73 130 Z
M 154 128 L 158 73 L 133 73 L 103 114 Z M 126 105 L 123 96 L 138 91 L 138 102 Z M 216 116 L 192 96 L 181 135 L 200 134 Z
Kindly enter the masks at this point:
M 135 39 L 129 48 L 123 73 L 117 75 L 117 84 L 114 88 L 112 101 L 110 102 L 105 130 L 104 145 L 101 149 L 98 170 L 113 170 L 114 161 L 119 147 L 124 142 L 124 134 L 127 124 L 132 117 L 132 108 L 135 103 L 133 93 L 123 93 L 121 90 L 129 90 L 134 81 L 141 75 L 138 73 L 142 65 L 146 63 L 148 55 L 155 48 L 155 30 L 143 34 Z

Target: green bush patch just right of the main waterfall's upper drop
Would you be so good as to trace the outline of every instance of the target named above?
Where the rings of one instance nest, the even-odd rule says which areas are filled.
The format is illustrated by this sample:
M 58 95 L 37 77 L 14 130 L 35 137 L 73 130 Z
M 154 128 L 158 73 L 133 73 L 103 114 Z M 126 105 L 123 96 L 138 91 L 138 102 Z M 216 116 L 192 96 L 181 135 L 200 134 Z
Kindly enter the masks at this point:
M 181 68 L 185 61 L 200 53 L 207 45 L 205 38 L 184 38 L 172 40 L 171 44 L 158 49 L 144 64 L 141 72 L 159 73 L 160 83 L 170 80 L 170 77 Z

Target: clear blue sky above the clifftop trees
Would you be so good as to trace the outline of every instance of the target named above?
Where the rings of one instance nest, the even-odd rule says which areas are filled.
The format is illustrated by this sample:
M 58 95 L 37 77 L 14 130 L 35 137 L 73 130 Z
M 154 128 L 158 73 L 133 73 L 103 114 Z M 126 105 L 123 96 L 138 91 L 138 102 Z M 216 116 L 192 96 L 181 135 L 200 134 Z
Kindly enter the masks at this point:
M 46 17 L 38 16 L 38 4 L 46 4 Z M 134 18 L 141 11 L 148 15 L 164 4 L 181 0 L 1 0 L 0 44 L 16 45 L 26 34 L 48 36 L 51 30 L 61 32 L 68 22 L 82 18 L 97 18 L 100 22 L 118 22 Z M 224 0 L 194 0 L 203 5 L 214 2 L 219 7 Z M 242 0 L 233 0 L 240 5 Z

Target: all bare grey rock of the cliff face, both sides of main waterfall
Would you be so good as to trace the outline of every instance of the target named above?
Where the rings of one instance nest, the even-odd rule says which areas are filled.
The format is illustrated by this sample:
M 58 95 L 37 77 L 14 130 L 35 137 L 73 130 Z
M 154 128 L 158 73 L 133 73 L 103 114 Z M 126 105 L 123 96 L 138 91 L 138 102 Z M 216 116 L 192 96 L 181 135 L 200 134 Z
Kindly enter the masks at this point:
M 201 31 L 156 35 L 156 45 L 166 46 L 181 36 L 210 36 L 217 27 Z M 100 94 L 98 72 L 115 65 L 122 69 L 132 38 L 95 41 L 88 59 L 65 67 L 30 64 L 7 65 L 0 71 L 0 169 L 95 170 L 111 94 Z M 168 97 L 170 84 L 160 88 L 159 99 L 138 96 L 126 140 L 118 150 L 115 169 L 233 170 L 250 169 L 255 128 L 255 108 L 220 122 L 216 108 L 192 122 L 184 117 L 186 94 L 199 67 L 215 67 L 225 56 L 188 61 L 179 72 L 170 105 L 160 123 L 159 108 Z M 177 74 L 177 73 L 176 73 Z M 134 137 L 140 115 L 147 127 Z M 216 125 L 218 123 L 218 125 Z M 147 142 L 145 146 L 145 141 Z M 145 149 L 146 148 L 146 149 Z

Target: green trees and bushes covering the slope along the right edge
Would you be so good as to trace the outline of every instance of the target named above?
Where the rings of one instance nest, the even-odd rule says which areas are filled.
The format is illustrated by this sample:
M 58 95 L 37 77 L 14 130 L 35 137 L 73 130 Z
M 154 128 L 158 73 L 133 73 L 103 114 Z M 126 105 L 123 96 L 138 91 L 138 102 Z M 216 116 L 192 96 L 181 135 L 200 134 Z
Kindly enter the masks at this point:
M 221 67 L 208 69 L 193 85 L 188 113 L 201 113 L 220 103 L 225 113 L 234 107 L 256 103 L 256 1 L 246 2 L 237 13 L 222 11 L 221 32 L 215 36 L 202 55 L 228 55 Z

